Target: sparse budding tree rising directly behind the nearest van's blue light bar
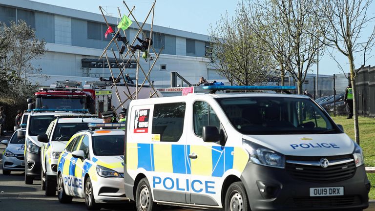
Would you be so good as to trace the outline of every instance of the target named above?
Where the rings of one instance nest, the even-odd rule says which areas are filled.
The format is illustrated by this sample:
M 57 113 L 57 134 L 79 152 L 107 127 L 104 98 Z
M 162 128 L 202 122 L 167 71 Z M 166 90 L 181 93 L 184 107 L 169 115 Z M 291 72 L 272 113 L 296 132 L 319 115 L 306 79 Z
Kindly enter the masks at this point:
M 241 6 L 235 17 L 227 14 L 210 27 L 213 65 L 231 84 L 261 84 L 269 76 L 271 56 L 260 50 L 263 42 L 251 30 Z

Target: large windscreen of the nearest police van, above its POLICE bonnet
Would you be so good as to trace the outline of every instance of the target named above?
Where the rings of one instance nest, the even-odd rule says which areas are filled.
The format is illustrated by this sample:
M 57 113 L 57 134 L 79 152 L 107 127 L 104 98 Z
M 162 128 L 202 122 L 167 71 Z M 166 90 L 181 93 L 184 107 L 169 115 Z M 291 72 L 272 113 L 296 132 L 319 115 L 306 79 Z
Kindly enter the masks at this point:
M 216 99 L 242 134 L 342 133 L 311 99 L 241 97 Z

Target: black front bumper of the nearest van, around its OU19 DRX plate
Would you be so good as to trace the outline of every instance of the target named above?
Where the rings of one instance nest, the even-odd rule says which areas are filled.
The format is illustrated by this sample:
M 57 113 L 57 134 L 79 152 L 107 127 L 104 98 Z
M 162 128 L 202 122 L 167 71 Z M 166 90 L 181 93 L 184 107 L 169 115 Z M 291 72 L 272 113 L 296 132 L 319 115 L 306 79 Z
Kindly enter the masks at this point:
M 355 170 L 350 179 L 313 183 L 292 178 L 286 169 L 248 163 L 241 180 L 252 211 L 354 211 L 369 206 L 370 182 L 363 165 Z M 344 195 L 310 196 L 310 188 L 323 187 L 344 187 Z M 261 193 L 260 189 L 264 192 Z

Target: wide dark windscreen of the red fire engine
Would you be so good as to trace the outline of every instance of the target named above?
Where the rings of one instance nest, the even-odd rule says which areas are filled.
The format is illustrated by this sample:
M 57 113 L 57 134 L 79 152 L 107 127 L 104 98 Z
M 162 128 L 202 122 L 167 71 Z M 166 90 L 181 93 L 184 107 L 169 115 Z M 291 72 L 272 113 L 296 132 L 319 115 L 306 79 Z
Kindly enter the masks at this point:
M 63 97 L 42 97 L 37 98 L 37 105 L 40 108 L 55 109 L 84 109 L 84 98 L 63 98 Z

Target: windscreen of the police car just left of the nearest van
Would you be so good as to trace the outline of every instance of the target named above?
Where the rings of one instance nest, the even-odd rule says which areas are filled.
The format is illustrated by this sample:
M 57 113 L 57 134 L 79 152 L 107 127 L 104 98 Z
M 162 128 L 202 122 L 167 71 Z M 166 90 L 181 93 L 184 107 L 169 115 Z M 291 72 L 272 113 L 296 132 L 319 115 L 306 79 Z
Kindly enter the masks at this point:
M 94 155 L 124 155 L 124 138 L 124 135 L 92 136 Z

